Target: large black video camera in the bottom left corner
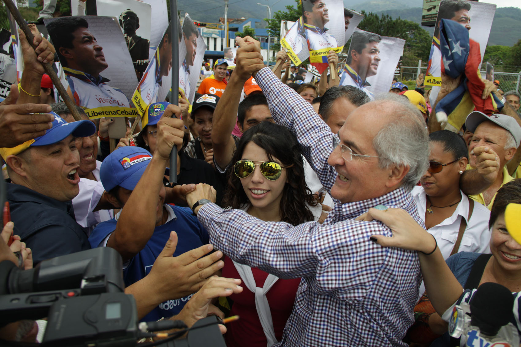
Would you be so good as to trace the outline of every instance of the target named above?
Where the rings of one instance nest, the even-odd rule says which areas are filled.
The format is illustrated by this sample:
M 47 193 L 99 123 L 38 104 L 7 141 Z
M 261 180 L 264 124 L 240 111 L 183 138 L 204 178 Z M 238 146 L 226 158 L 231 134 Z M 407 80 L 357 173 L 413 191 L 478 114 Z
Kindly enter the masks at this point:
M 3 261 L 0 327 L 47 317 L 42 346 L 136 346 L 150 334 L 139 329 L 134 298 L 123 292 L 121 268 L 121 257 L 110 247 L 48 259 L 31 270 Z M 216 316 L 201 319 L 187 338 L 174 341 L 172 337 L 152 345 L 226 346 L 217 323 Z M 178 321 L 177 327 L 185 325 Z M 197 331 L 191 333 L 193 329 Z

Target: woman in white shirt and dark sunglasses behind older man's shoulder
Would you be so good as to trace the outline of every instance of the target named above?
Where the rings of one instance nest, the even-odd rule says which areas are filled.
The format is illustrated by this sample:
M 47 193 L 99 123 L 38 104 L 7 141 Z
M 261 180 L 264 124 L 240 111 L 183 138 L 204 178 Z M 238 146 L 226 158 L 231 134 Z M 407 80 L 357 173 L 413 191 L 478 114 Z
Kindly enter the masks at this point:
M 429 168 L 421 187 L 412 191 L 425 227 L 437 240 L 443 257 L 467 252 L 488 252 L 488 209 L 460 190 L 460 177 L 468 162 L 468 150 L 460 135 L 440 130 L 429 135 Z

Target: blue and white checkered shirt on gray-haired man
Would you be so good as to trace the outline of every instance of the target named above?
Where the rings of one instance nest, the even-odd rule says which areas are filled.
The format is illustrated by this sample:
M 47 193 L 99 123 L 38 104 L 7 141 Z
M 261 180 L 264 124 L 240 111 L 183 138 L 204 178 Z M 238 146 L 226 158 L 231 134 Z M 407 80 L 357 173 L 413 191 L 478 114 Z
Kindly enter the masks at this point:
M 333 151 L 329 127 L 311 104 L 268 68 L 259 71 L 255 80 L 268 98 L 272 117 L 296 135 L 330 191 L 337 172 L 327 164 Z M 280 278 L 302 277 L 278 345 L 406 346 L 401 340 L 414 321 L 419 261 L 416 252 L 384 248 L 369 240 L 373 234 L 392 236 L 381 222 L 354 220 L 378 204 L 403 208 L 423 225 L 411 193 L 404 188 L 366 201 L 336 201 L 322 225 L 265 222 L 215 204 L 201 207 L 198 217 L 210 242 L 234 261 Z

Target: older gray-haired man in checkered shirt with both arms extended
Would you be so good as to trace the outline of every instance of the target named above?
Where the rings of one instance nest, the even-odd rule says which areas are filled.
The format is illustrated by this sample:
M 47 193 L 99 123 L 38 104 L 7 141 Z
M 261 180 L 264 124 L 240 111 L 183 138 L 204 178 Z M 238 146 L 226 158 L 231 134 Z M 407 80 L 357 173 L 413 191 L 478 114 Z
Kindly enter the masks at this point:
M 346 117 L 337 137 L 311 104 L 263 68 L 257 41 L 236 40 L 237 68 L 253 73 L 274 120 L 296 135 L 336 204 L 324 224 L 298 226 L 221 209 L 201 200 L 212 196 L 202 185 L 187 195 L 189 206 L 217 249 L 234 261 L 302 278 L 280 345 L 407 346 L 402 338 L 414 321 L 418 256 L 379 246 L 371 236 L 392 231 L 355 218 L 370 207 L 398 207 L 423 225 L 411 195 L 428 166 L 428 134 L 418 109 L 400 98 L 369 102 Z

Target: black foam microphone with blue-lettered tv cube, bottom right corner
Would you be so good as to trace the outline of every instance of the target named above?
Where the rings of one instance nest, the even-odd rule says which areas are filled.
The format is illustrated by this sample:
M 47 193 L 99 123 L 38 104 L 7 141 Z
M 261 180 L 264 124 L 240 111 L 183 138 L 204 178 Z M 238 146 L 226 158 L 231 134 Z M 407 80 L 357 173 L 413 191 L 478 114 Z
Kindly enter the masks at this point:
M 518 347 L 517 327 L 510 323 L 513 306 L 510 290 L 498 283 L 483 283 L 469 304 L 454 307 L 449 334 L 461 338 L 461 346 Z

